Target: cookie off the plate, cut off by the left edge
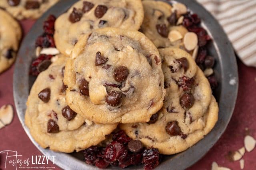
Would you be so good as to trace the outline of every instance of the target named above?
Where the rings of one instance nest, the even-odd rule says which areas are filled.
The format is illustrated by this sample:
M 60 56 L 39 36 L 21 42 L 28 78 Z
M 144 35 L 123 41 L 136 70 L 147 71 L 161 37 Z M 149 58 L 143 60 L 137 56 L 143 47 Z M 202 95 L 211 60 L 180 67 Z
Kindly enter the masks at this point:
M 22 36 L 20 25 L 6 11 L 0 9 L 0 73 L 15 61 Z

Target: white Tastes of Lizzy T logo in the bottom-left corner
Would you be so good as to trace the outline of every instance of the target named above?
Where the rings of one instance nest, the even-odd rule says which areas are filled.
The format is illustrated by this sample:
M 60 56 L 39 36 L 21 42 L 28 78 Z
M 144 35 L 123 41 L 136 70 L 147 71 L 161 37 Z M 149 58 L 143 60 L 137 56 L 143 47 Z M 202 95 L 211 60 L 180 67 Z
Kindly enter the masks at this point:
M 55 164 L 55 155 L 32 155 L 31 158 L 22 158 L 22 155 L 13 150 L 2 150 L 0 154 L 4 155 L 5 167 L 9 169 L 53 169 L 55 167 L 49 167 L 50 158 L 52 158 L 53 164 Z M 40 165 L 40 166 L 38 166 Z

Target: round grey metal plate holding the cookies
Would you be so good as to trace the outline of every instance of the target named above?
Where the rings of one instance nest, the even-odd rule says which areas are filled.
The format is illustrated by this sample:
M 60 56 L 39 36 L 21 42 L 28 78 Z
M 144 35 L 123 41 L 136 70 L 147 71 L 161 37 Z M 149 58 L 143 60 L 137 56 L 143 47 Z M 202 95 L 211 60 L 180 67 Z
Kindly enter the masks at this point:
M 66 12 L 68 8 L 74 4 L 77 0 L 61 0 L 50 8 L 41 18 L 37 20 L 34 26 L 31 28 L 28 35 L 24 38 L 20 51 L 18 52 L 18 59 L 15 65 L 14 71 L 14 101 L 18 113 L 18 117 L 22 124 L 22 127 L 28 134 L 28 137 L 33 144 L 44 155 L 56 155 L 55 162 L 60 168 L 65 170 L 80 170 L 80 169 L 98 169 L 95 166 L 86 164 L 79 153 L 59 153 L 53 152 L 49 149 L 41 148 L 32 138 L 28 128 L 24 125 L 24 114 L 26 111 L 26 101 L 28 98 L 30 87 L 34 82 L 34 78 L 28 75 L 30 63 L 34 57 L 35 40 L 42 34 L 42 25 L 44 20 L 49 14 L 59 16 Z M 175 154 L 172 156 L 165 156 L 163 162 L 157 167 L 159 170 L 170 169 L 183 170 L 195 162 L 197 162 L 208 150 L 215 144 L 220 138 L 221 134 L 225 131 L 230 118 L 232 116 L 234 105 L 236 103 L 236 97 L 238 92 L 238 71 L 236 65 L 236 57 L 231 43 L 229 42 L 222 27 L 213 18 L 213 16 L 207 12 L 200 4 L 192 0 L 177 0 L 188 6 L 189 10 L 198 14 L 202 20 L 202 26 L 206 28 L 208 34 L 212 37 L 213 41 L 209 44 L 210 55 L 216 58 L 216 65 L 214 72 L 219 82 L 218 89 L 214 91 L 214 96 L 219 103 L 219 120 L 214 129 L 206 135 L 197 144 L 189 148 L 188 150 Z M 230 80 L 236 80 L 236 83 L 232 85 Z M 111 169 L 119 169 L 118 167 L 110 167 Z M 141 169 L 142 166 L 132 166 L 126 169 Z

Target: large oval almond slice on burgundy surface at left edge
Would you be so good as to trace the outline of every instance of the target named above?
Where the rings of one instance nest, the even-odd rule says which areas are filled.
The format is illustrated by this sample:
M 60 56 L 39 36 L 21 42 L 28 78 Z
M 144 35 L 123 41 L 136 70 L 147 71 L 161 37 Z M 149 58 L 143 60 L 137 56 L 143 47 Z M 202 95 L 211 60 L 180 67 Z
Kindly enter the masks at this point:
M 0 120 L 4 125 L 9 125 L 13 119 L 12 105 L 3 105 L 0 108 Z

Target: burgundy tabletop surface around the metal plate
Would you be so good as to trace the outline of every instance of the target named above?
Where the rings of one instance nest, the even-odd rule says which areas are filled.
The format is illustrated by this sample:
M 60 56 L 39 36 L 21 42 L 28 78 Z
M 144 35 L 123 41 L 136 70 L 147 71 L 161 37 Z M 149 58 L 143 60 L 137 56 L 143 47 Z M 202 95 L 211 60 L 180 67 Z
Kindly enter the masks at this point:
M 25 20 L 22 21 L 21 24 L 24 30 L 24 35 L 26 35 L 34 22 Z M 12 93 L 13 71 L 14 65 L 4 73 L 0 74 L 0 106 L 4 104 L 11 104 L 14 106 Z M 238 60 L 238 71 L 238 99 L 233 117 L 226 132 L 224 132 L 220 140 L 218 140 L 212 149 L 200 161 L 188 168 L 188 170 L 210 170 L 213 161 L 217 162 L 220 166 L 226 166 L 232 170 L 239 170 L 239 161 L 230 162 L 226 155 L 229 151 L 238 150 L 244 146 L 243 141 L 245 134 L 250 134 L 256 138 L 256 69 L 246 67 L 240 60 Z M 248 130 L 246 131 L 245 128 L 248 128 Z M 30 158 L 30 161 L 32 155 L 42 155 L 23 130 L 16 115 L 16 111 L 12 123 L 7 127 L 0 129 L 0 152 L 2 150 L 18 151 L 18 154 L 22 155 L 20 158 L 23 160 Z M 253 170 L 256 168 L 256 149 L 252 150 L 250 153 L 246 152 L 243 158 L 245 161 L 245 170 Z M 0 170 L 5 169 L 5 159 L 5 154 L 0 154 Z M 29 166 L 33 167 L 34 165 L 30 162 Z M 60 169 L 52 162 L 48 165 L 35 166 L 55 167 L 56 170 Z M 15 166 L 9 164 L 6 169 L 12 170 L 15 169 Z

